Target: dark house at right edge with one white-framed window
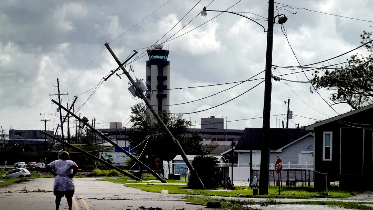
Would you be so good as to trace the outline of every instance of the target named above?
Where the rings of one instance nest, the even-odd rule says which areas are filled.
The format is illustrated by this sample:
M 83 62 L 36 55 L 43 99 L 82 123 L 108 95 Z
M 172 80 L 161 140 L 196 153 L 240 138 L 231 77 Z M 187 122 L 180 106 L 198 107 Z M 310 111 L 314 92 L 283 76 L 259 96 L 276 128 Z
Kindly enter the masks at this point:
M 305 127 L 314 134 L 314 165 L 340 188 L 373 188 L 373 104 Z

